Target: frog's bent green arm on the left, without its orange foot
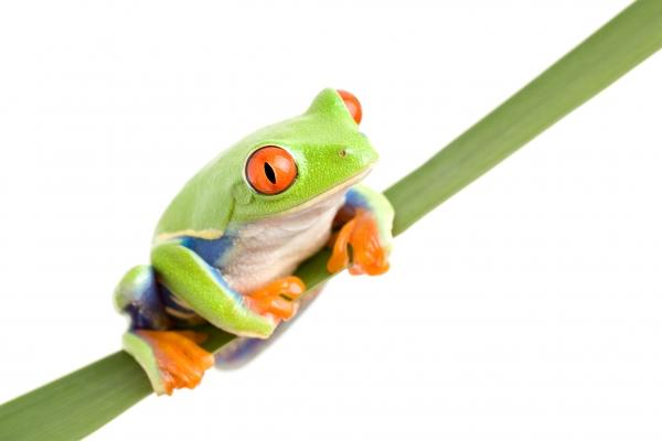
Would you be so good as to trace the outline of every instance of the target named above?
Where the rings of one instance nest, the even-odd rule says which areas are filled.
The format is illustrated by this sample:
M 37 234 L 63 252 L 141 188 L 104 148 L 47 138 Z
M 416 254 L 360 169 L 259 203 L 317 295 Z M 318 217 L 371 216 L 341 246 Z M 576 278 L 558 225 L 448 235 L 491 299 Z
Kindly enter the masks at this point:
M 218 270 L 180 241 L 157 245 L 151 261 L 159 281 L 214 326 L 259 338 L 268 337 L 276 329 L 274 316 L 253 311 L 247 299 L 232 290 Z

